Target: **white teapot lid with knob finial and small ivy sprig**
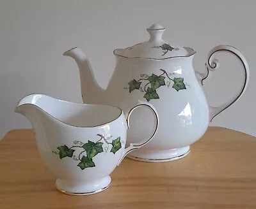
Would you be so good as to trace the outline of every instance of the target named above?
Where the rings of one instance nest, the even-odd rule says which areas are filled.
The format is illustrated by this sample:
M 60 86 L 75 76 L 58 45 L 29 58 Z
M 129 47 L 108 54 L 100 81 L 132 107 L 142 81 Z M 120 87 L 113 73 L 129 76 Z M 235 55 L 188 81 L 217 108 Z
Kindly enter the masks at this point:
M 180 47 L 167 43 L 162 39 L 165 28 L 159 24 L 153 24 L 147 28 L 150 39 L 143 43 L 138 43 L 124 50 L 117 49 L 115 55 L 126 58 L 145 58 L 145 59 L 168 59 L 171 57 L 189 57 L 195 54 L 192 48 Z

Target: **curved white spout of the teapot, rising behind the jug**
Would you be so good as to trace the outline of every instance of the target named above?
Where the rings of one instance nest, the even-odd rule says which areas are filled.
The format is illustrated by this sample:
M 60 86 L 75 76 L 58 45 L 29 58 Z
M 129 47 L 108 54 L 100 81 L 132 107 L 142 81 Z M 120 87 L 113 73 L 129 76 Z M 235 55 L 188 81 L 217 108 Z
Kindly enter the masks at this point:
M 102 103 L 104 89 L 102 89 L 93 75 L 92 66 L 81 48 L 75 47 L 63 53 L 72 57 L 79 68 L 81 94 L 84 103 Z

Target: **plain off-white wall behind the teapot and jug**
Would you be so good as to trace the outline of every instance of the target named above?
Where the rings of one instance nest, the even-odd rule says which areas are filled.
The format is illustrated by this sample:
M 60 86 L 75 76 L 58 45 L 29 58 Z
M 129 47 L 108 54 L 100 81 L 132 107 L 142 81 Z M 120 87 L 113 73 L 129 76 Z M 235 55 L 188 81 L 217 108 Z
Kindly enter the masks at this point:
M 153 23 L 166 27 L 164 40 L 192 47 L 204 71 L 206 56 L 219 44 L 232 45 L 250 66 L 244 96 L 214 119 L 256 136 L 255 1 L 0 1 L 0 133 L 31 127 L 13 112 L 19 99 L 39 92 L 81 102 L 76 63 L 62 53 L 80 47 L 90 58 L 99 84 L 106 88 L 115 66 L 113 50 L 148 39 Z M 205 85 L 212 105 L 220 105 L 242 85 L 243 68 L 232 55 L 218 55 L 221 66 Z M 1 135 L 0 134 L 0 135 Z

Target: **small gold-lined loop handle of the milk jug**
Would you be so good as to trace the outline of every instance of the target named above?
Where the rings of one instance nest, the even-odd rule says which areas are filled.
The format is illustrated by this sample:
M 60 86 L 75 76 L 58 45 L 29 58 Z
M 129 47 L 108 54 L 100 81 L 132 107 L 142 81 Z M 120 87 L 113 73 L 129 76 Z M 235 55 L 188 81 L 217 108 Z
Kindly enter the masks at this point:
M 151 141 L 154 136 L 156 135 L 157 133 L 157 129 L 158 129 L 158 126 L 159 126 L 159 116 L 157 114 L 157 111 L 156 111 L 156 108 L 154 108 L 153 105 L 151 105 L 150 103 L 145 103 L 143 101 L 139 101 L 138 105 L 135 105 L 133 108 L 131 108 L 131 110 L 129 111 L 129 113 L 127 114 L 127 119 L 126 119 L 126 122 L 127 122 L 127 127 L 129 129 L 130 127 L 130 117 L 131 117 L 131 114 L 132 112 L 137 109 L 137 108 L 140 108 L 140 107 L 147 107 L 147 108 L 150 108 L 150 110 L 154 113 L 155 117 L 156 117 L 156 127 L 154 129 L 154 132 L 152 134 L 152 136 L 150 136 L 150 138 L 146 139 L 146 140 L 143 140 L 143 141 L 140 141 L 138 143 L 131 143 L 129 145 L 129 147 L 125 148 L 124 150 L 124 154 L 122 156 L 122 158 L 120 159 L 120 161 L 118 162 L 118 166 L 119 164 L 123 161 L 124 157 L 129 154 L 129 152 L 131 152 L 132 150 L 135 150 L 137 148 L 141 148 L 143 147 L 144 145 L 146 145 L 149 141 Z

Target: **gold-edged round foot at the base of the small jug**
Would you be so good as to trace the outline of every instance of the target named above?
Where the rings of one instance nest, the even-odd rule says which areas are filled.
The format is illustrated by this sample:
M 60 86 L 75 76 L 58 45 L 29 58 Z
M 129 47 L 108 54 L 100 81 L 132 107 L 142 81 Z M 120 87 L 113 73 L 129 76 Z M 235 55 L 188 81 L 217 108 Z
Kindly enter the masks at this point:
M 109 176 L 90 182 L 72 182 L 58 178 L 56 180 L 56 189 L 64 194 L 71 195 L 96 194 L 108 189 L 110 182 L 111 178 Z

